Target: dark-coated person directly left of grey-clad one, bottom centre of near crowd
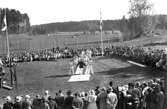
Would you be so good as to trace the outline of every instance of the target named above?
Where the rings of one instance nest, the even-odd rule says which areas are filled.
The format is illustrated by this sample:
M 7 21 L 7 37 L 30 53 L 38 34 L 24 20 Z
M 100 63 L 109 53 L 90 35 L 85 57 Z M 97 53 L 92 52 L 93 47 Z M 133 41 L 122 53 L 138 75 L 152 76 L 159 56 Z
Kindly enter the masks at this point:
M 64 100 L 63 109 L 73 109 L 72 107 L 73 96 L 71 90 L 67 91 L 67 97 Z

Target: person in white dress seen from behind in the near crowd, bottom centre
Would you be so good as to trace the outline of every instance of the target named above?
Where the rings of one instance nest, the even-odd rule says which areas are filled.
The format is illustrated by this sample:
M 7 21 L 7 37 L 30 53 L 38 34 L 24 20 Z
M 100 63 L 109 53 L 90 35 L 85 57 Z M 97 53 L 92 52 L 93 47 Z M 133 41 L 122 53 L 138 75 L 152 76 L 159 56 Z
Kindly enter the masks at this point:
M 87 109 L 97 109 L 96 100 L 97 100 L 97 96 L 95 95 L 94 90 L 91 90 L 88 96 L 89 103 L 88 103 Z

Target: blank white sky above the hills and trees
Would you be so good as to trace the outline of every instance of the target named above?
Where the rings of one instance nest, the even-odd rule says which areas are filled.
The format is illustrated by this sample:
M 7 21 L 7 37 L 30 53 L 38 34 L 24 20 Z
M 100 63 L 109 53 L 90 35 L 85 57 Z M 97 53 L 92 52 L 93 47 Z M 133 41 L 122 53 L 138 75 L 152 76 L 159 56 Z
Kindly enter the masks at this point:
M 154 14 L 167 14 L 167 0 L 148 0 Z M 127 16 L 129 0 L 0 0 L 1 8 L 28 13 L 31 25 L 51 22 L 97 20 Z

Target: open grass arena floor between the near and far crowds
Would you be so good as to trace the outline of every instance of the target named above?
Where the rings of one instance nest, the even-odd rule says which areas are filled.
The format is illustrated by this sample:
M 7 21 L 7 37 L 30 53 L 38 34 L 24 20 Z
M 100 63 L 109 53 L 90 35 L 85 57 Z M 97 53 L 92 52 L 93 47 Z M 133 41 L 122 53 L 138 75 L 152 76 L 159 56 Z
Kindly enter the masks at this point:
M 95 75 L 89 82 L 67 82 L 68 59 L 57 62 L 30 62 L 20 63 L 17 66 L 18 89 L 7 91 L 1 89 L 1 97 L 5 95 L 30 94 L 49 89 L 54 95 L 56 91 L 71 89 L 73 91 L 88 91 L 96 86 L 106 86 L 110 80 L 114 85 L 125 85 L 131 81 L 143 81 L 155 77 L 161 77 L 162 72 L 149 67 L 142 68 L 132 65 L 127 60 L 120 60 L 112 57 L 96 57 L 93 68 Z

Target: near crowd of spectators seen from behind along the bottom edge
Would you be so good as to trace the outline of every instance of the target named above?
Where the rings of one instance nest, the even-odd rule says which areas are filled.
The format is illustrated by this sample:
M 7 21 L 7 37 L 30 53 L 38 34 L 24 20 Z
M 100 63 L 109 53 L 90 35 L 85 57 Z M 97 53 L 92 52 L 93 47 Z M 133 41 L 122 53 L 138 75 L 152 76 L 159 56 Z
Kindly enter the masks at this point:
M 3 109 L 163 109 L 164 86 L 160 79 L 128 85 L 108 86 L 88 92 L 59 90 L 50 96 L 48 90 L 43 95 L 10 96 L 5 98 Z

